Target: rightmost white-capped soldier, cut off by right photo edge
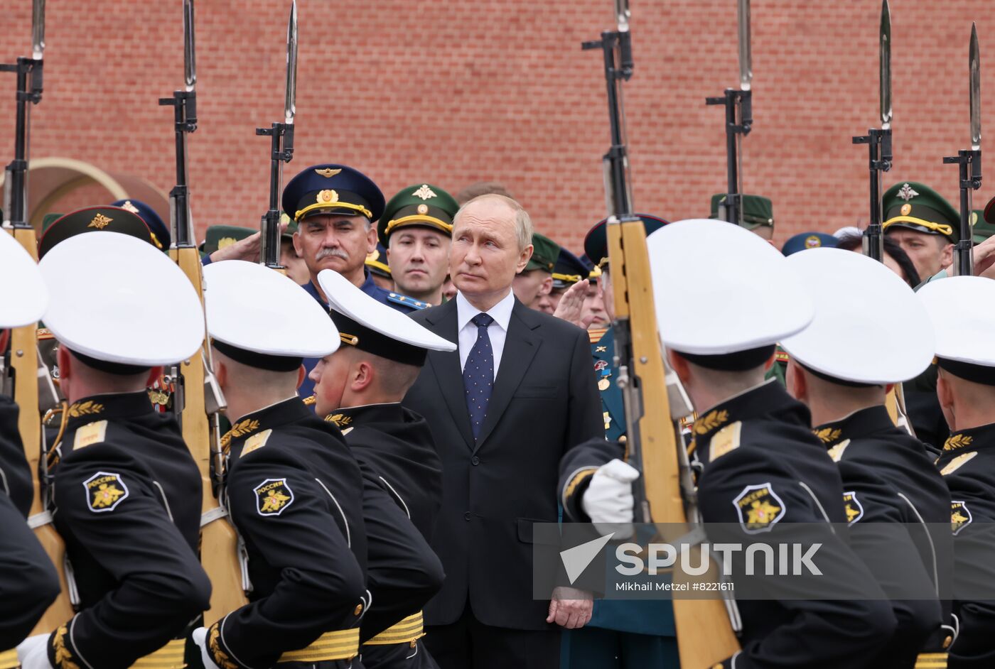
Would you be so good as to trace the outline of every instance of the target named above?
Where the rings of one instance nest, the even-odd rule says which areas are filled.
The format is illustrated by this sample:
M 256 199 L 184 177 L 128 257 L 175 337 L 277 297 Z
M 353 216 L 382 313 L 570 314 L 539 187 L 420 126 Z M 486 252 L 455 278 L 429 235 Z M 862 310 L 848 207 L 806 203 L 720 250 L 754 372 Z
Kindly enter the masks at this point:
M 995 281 L 953 276 L 917 293 L 936 331 L 936 394 L 950 435 L 936 461 L 950 489 L 954 612 L 947 666 L 995 666 Z M 979 305 L 989 305 L 983 307 Z

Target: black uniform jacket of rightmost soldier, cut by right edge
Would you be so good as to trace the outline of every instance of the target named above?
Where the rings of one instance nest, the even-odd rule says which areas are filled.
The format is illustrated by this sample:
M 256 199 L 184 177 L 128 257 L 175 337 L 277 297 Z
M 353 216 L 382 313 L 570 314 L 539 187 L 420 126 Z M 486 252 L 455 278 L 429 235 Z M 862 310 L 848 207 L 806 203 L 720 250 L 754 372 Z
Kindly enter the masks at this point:
M 995 423 L 959 430 L 936 461 L 950 489 L 954 549 L 954 612 L 960 633 L 948 666 L 995 666 L 995 598 L 977 594 L 995 584 Z

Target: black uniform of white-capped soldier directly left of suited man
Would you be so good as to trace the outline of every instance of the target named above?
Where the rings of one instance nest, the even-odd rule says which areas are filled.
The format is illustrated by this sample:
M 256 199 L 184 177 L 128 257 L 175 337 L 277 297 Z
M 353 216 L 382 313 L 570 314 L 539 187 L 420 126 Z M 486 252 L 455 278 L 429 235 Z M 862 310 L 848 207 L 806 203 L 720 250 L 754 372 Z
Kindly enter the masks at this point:
M 340 409 L 325 419 L 341 427 L 363 470 L 374 601 L 360 631 L 363 665 L 434 669 L 417 640 L 421 608 L 445 578 L 428 545 L 442 505 L 442 462 L 428 423 L 398 403 Z

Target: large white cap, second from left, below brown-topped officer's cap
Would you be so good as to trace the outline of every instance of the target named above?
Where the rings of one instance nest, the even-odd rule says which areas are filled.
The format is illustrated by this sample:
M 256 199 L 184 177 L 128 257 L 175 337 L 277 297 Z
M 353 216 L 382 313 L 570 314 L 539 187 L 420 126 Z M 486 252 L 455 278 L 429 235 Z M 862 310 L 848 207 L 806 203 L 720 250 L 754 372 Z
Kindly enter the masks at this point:
M 204 311 L 186 274 L 147 241 L 77 235 L 38 264 L 51 297 L 45 326 L 70 350 L 153 367 L 187 360 L 204 341 Z

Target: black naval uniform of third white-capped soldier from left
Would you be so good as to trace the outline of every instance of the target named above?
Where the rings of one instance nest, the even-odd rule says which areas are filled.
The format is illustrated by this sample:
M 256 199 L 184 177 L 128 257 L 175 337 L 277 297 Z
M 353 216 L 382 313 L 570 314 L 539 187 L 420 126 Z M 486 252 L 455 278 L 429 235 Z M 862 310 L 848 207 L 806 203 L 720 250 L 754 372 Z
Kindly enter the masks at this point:
M 361 667 L 349 658 L 370 603 L 363 483 L 338 429 L 294 397 L 240 418 L 225 441 L 225 495 L 252 590 L 208 629 L 215 664 Z

